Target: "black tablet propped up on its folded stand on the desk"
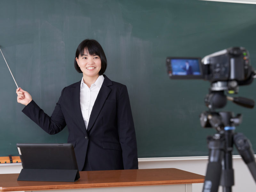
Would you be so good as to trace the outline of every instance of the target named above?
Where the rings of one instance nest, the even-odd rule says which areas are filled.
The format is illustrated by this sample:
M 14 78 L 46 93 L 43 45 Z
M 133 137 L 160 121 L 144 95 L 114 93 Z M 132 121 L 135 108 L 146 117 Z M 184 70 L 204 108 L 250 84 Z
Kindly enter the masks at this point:
M 17 143 L 17 148 L 23 171 L 64 173 L 65 170 L 66 172 L 76 170 L 76 180 L 80 177 L 74 147 L 71 143 Z

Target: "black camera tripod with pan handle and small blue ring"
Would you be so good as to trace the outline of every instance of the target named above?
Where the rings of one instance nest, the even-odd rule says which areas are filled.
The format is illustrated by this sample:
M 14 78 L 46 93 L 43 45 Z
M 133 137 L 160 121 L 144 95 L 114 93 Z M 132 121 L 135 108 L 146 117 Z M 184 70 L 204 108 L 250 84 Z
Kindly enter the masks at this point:
M 208 108 L 222 108 L 227 98 L 223 92 L 211 92 L 205 103 Z M 233 98 L 234 99 L 234 98 Z M 236 104 L 253 108 L 254 101 L 246 98 L 235 98 Z M 233 100 L 234 102 L 234 100 Z M 217 192 L 219 185 L 223 192 L 231 192 L 234 185 L 234 170 L 232 164 L 233 144 L 248 166 L 256 182 L 256 163 L 250 140 L 242 133 L 235 133 L 235 126 L 242 122 L 242 115 L 234 116 L 232 112 L 208 111 L 201 114 L 202 127 L 214 127 L 217 133 L 208 136 L 209 161 L 204 181 L 203 192 Z

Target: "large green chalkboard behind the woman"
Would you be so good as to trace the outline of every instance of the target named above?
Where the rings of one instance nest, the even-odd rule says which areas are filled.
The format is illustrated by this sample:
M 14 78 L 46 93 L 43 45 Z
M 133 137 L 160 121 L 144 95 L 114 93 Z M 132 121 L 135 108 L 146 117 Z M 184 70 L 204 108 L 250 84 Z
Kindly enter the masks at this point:
M 210 83 L 170 80 L 165 58 L 204 57 L 243 46 L 256 67 L 256 5 L 197 0 L 1 0 L 0 45 L 20 87 L 51 115 L 63 87 L 81 80 L 73 67 L 77 45 L 96 39 L 106 75 L 127 85 L 139 157 L 204 156 L 199 115 Z M 239 96 L 256 100 L 256 82 Z M 16 143 L 67 141 L 67 129 L 48 135 L 17 103 L 16 86 L 0 56 L 0 156 L 18 155 Z M 255 109 L 223 108 L 244 115 L 243 132 L 256 149 Z

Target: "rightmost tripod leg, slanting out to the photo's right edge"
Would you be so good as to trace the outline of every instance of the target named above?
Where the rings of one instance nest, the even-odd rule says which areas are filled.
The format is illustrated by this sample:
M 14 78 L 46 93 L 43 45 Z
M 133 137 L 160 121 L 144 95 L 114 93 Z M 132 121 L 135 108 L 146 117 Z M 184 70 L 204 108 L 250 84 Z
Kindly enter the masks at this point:
M 234 143 L 256 182 L 256 163 L 250 140 L 248 140 L 243 133 L 236 133 L 234 134 Z

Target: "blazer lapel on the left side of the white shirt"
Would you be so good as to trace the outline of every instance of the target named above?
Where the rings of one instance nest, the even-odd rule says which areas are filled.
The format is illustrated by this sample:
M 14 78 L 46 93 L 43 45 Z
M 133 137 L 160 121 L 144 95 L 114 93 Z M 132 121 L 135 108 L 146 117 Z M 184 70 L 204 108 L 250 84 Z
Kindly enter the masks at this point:
M 76 116 L 76 120 L 78 124 L 80 125 L 79 128 L 84 132 L 85 135 L 87 135 L 85 124 L 84 124 L 84 118 L 81 111 L 80 106 L 80 85 L 81 81 L 74 84 L 74 86 L 71 88 L 71 100 L 74 105 L 74 113 Z

